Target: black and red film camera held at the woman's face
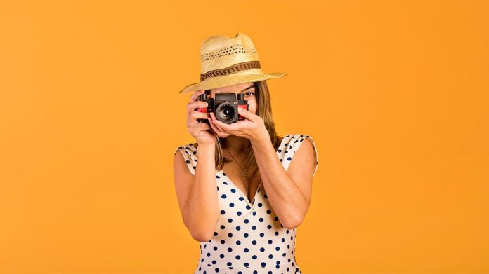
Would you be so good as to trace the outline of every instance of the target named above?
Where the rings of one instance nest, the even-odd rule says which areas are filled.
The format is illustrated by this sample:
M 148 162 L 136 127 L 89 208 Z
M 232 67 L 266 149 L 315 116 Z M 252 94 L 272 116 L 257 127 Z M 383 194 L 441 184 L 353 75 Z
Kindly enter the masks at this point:
M 248 100 L 244 100 L 243 93 L 216 93 L 215 99 L 207 99 L 207 95 L 209 94 L 206 91 L 197 97 L 198 101 L 207 102 L 207 108 L 200 107 L 197 108 L 197 111 L 205 113 L 214 112 L 217 120 L 227 124 L 244 120 L 244 117 L 237 112 L 238 107 L 242 107 L 246 110 L 249 109 Z M 209 123 L 207 119 L 201 118 L 197 118 L 197 122 Z

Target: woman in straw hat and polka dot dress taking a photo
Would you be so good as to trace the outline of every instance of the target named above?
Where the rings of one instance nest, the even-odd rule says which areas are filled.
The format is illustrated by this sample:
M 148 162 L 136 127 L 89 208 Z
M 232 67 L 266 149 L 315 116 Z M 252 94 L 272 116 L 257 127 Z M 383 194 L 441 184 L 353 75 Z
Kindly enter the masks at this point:
M 204 41 L 201 62 L 200 83 L 181 91 L 197 90 L 187 104 L 197 142 L 174 156 L 183 222 L 200 242 L 195 273 L 301 273 L 296 227 L 311 203 L 318 154 L 311 136 L 275 132 L 266 80 L 286 74 L 264 74 L 251 39 L 240 33 Z M 209 107 L 199 100 L 204 93 L 244 93 L 249 109 L 237 107 L 243 119 L 223 123 L 195 110 Z

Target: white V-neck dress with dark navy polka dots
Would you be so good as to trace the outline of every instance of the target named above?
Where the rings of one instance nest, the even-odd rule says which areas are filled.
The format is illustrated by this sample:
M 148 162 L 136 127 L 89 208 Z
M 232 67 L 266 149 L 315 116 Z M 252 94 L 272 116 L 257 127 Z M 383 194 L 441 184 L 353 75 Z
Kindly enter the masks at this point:
M 318 170 L 318 151 L 309 135 L 286 135 L 277 149 L 277 156 L 287 170 L 294 153 L 310 139 L 315 151 Z M 179 146 L 188 168 L 195 174 L 197 149 L 192 144 Z M 296 228 L 287 229 L 271 207 L 263 182 L 250 202 L 226 174 L 216 172 L 219 197 L 219 220 L 214 236 L 200 242 L 200 259 L 195 273 L 301 273 L 294 248 Z

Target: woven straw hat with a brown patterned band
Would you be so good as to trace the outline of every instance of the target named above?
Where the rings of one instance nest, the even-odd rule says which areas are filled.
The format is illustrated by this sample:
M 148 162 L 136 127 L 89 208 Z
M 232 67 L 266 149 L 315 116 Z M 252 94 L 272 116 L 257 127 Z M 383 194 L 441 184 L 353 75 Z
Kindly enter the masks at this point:
M 210 90 L 285 75 L 284 72 L 261 71 L 258 53 L 248 36 L 240 32 L 234 38 L 210 36 L 200 46 L 200 82 L 187 85 L 178 93 Z

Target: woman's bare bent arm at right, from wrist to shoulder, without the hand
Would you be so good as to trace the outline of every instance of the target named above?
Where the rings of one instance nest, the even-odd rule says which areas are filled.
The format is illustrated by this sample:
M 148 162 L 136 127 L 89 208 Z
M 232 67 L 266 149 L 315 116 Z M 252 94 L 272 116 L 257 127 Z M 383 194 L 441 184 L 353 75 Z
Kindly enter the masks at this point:
M 287 171 L 280 163 L 268 132 L 250 139 L 268 200 L 285 228 L 296 228 L 304 221 L 311 204 L 315 167 L 311 142 L 304 142 L 294 154 Z

